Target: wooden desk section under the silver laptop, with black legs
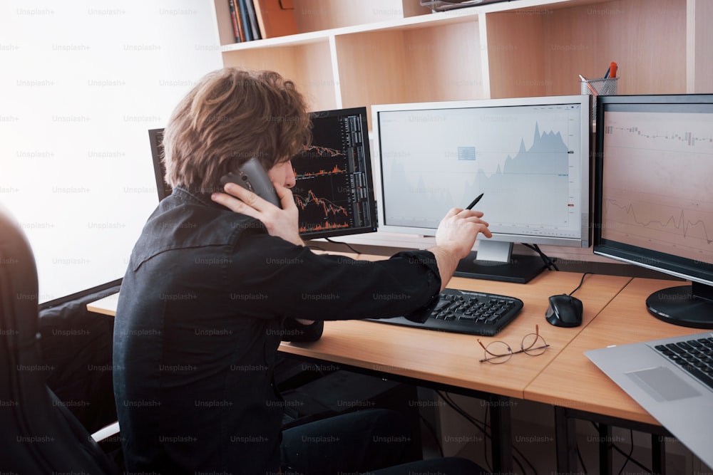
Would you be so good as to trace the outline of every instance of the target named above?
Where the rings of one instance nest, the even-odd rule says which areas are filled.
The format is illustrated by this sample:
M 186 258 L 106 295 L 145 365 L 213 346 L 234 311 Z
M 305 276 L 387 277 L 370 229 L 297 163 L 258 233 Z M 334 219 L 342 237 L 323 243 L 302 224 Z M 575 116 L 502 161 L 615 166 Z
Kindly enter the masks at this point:
M 665 451 L 662 438 L 668 435 L 660 424 L 619 386 L 597 368 L 586 350 L 623 345 L 670 336 L 695 333 L 694 328 L 680 327 L 654 318 L 646 309 L 651 293 L 677 285 L 674 281 L 635 278 L 597 315 L 550 365 L 525 387 L 527 400 L 555 406 L 558 471 L 576 471 L 574 419 L 600 423 L 600 472 L 611 469 L 607 447 L 610 426 L 639 429 L 652 434 L 652 459 L 655 473 L 663 473 Z

